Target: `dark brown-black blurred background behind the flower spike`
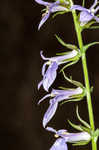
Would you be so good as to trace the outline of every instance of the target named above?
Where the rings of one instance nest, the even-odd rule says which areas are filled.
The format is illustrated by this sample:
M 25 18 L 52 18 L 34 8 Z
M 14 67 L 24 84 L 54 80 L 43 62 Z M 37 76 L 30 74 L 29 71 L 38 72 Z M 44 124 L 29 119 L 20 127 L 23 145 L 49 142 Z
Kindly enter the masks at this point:
M 76 2 L 76 1 L 75 1 Z M 93 1 L 92 1 L 93 2 Z M 89 6 L 89 1 L 86 3 Z M 76 36 L 71 14 L 50 19 L 37 30 L 41 9 L 30 0 L 0 1 L 0 148 L 2 150 L 48 150 L 54 142 L 53 134 L 42 128 L 42 118 L 48 107 L 48 100 L 37 106 L 38 100 L 46 93 L 37 84 L 41 80 L 40 50 L 45 56 L 54 56 L 65 50 L 55 39 L 54 34 L 67 43 L 75 42 Z M 99 30 L 88 30 L 83 34 L 84 43 L 99 41 Z M 96 128 L 99 127 L 99 46 L 87 52 L 90 83 L 94 86 L 92 98 Z M 67 69 L 67 75 L 83 83 L 81 62 Z M 53 84 L 68 86 L 61 74 Z M 73 130 L 67 123 L 69 118 L 77 123 L 75 106 L 79 104 L 82 118 L 88 121 L 86 101 L 67 103 L 59 107 L 49 123 L 56 129 Z M 69 149 L 84 150 L 86 147 Z

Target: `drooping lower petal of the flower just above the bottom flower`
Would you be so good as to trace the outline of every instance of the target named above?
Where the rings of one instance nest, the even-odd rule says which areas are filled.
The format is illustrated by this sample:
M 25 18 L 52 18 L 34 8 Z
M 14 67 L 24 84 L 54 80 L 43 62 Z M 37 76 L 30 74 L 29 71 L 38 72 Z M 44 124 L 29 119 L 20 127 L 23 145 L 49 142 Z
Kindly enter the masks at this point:
M 50 106 L 48 107 L 46 113 L 44 114 L 43 117 L 43 127 L 45 128 L 45 126 L 47 125 L 47 123 L 52 119 L 52 117 L 54 116 L 56 109 L 58 107 L 58 103 L 55 102 L 54 99 L 50 100 Z

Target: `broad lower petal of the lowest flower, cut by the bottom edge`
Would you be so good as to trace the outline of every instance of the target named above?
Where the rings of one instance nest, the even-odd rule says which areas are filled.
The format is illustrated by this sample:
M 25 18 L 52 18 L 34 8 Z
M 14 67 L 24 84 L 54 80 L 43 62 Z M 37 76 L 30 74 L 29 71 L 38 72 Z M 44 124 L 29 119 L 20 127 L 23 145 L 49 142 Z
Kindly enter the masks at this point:
M 68 150 L 68 147 L 63 138 L 58 138 L 50 150 Z

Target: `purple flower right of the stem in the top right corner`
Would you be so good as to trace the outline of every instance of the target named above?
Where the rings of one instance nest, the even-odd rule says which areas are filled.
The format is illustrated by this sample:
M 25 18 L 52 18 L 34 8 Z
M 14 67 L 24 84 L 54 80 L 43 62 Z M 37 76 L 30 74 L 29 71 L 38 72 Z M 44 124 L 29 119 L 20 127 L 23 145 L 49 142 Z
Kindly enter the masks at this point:
M 99 6 L 96 7 L 97 3 L 98 3 L 98 1 L 95 0 L 93 5 L 89 9 L 84 8 L 80 5 L 73 5 L 71 7 L 71 9 L 81 11 L 81 13 L 80 13 L 81 25 L 86 24 L 87 22 L 91 21 L 92 19 L 95 19 L 96 22 L 99 22 L 99 18 L 97 16 L 95 16 L 95 13 L 99 10 Z

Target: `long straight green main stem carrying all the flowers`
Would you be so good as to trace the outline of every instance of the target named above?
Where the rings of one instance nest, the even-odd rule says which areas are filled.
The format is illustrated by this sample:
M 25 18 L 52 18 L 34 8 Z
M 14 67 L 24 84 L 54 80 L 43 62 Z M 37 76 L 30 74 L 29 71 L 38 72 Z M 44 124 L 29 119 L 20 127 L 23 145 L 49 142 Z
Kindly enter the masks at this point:
M 72 3 L 72 2 L 71 2 Z M 92 131 L 95 131 L 94 127 L 94 116 L 93 116 L 93 108 L 92 108 L 92 102 L 91 102 L 91 94 L 90 94 L 90 84 L 89 84 L 89 77 L 88 77 L 88 69 L 87 69 L 87 61 L 86 61 L 86 54 L 83 50 L 83 40 L 81 35 L 81 29 L 78 23 L 78 18 L 76 15 L 75 10 L 72 11 L 77 40 L 79 44 L 80 51 L 82 53 L 82 66 L 83 66 L 83 73 L 84 73 L 84 80 L 85 80 L 85 87 L 86 87 L 86 97 L 87 97 L 87 105 L 88 105 L 88 113 L 89 113 L 89 121 Z M 92 138 L 92 150 L 97 150 L 97 144 L 95 141 L 95 138 Z

